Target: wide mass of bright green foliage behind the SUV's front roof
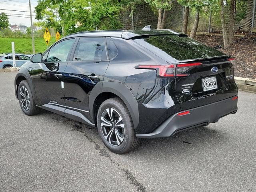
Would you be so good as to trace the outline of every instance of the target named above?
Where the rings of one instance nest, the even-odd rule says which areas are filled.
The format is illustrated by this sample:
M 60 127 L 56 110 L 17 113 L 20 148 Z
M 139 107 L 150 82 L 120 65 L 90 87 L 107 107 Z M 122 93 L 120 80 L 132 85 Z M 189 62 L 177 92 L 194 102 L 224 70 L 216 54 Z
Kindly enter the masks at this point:
M 48 27 L 65 34 L 73 32 L 117 29 L 122 25 L 118 14 L 122 9 L 116 0 L 39 0 L 35 8 L 36 19 L 46 20 Z

